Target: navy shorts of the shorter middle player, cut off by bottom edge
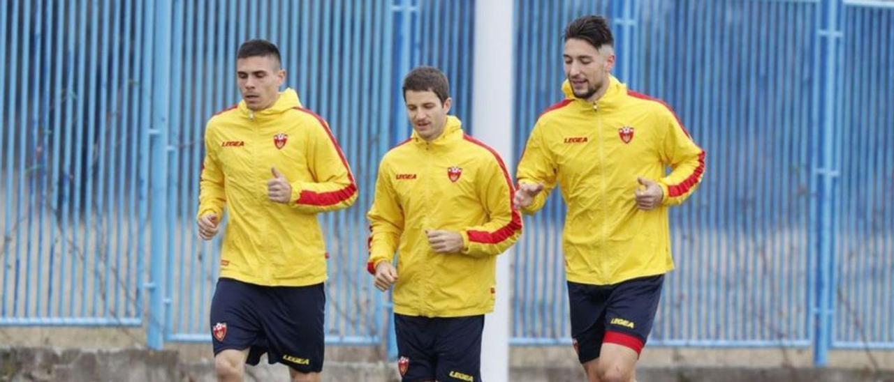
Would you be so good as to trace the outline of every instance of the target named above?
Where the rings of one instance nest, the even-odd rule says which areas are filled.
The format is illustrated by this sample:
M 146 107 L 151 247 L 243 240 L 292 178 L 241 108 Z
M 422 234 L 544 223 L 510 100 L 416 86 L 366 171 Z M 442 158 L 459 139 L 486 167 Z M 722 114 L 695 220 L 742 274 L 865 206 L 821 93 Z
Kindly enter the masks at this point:
M 395 313 L 402 380 L 480 381 L 484 329 L 484 315 L 427 318 Z

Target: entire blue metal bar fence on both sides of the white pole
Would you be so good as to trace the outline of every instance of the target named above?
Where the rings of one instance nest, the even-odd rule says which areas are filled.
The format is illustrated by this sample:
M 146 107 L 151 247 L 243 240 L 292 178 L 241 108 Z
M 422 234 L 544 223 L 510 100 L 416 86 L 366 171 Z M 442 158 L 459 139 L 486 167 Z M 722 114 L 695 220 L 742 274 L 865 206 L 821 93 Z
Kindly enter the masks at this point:
M 239 43 L 266 37 L 283 51 L 288 85 L 330 121 L 360 187 L 355 207 L 321 218 L 327 339 L 384 341 L 388 303 L 363 269 L 376 165 L 409 135 L 400 82 L 410 68 L 447 72 L 460 119 L 487 107 L 471 99 L 472 5 L 4 3 L 0 325 L 146 325 L 156 347 L 209 339 L 220 244 L 199 242 L 193 223 L 202 133 L 239 99 Z M 561 98 L 561 31 L 586 13 L 611 19 L 615 74 L 671 104 L 708 152 L 702 188 L 671 214 L 678 270 L 651 343 L 814 345 L 820 364 L 829 348 L 894 348 L 894 4 L 516 6 L 516 153 Z M 513 259 L 514 345 L 569 342 L 563 217 L 552 195 L 527 218 Z

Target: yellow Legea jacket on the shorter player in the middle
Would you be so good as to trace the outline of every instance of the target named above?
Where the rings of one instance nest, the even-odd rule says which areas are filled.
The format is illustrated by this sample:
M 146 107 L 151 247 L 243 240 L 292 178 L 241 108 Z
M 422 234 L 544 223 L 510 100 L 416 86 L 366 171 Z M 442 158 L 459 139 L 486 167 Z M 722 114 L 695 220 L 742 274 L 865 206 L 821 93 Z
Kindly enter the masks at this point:
M 493 311 L 496 255 L 521 235 L 514 192 L 502 159 L 463 134 L 448 116 L 432 142 L 413 133 L 384 155 L 375 182 L 369 262 L 398 253 L 394 311 L 409 316 L 460 317 Z M 460 232 L 461 253 L 434 253 L 426 229 Z

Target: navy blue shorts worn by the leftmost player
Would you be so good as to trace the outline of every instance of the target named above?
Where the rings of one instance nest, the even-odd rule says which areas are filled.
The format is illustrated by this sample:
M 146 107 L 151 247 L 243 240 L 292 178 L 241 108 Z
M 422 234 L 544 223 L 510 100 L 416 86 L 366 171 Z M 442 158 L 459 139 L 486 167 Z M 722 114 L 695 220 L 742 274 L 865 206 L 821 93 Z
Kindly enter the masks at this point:
M 257 286 L 232 278 L 217 280 L 211 301 L 215 355 L 249 349 L 249 365 L 261 354 L 302 373 L 323 370 L 325 314 L 323 284 Z

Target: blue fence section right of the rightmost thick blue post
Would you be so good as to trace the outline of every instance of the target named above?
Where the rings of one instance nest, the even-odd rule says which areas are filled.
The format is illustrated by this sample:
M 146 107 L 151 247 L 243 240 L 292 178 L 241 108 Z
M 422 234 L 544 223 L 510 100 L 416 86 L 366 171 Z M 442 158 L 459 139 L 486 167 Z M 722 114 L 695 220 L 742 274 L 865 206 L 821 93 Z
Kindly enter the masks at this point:
M 894 348 L 894 4 L 845 2 L 832 161 L 832 346 Z M 887 5 L 883 7 L 881 5 Z

